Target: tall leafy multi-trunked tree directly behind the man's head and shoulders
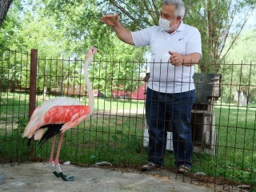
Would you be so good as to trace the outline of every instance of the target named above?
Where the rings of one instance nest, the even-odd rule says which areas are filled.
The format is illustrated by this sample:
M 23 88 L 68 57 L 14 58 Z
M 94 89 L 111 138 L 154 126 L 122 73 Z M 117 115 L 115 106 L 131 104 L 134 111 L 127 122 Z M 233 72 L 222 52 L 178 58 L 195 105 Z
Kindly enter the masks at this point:
M 158 25 L 162 2 L 160 0 L 100 2 L 109 3 L 117 12 L 121 12 L 122 23 L 130 30 Z M 186 4 L 185 22 L 196 26 L 202 34 L 203 58 L 199 65 L 200 69 L 202 72 L 218 72 L 220 63 L 225 59 L 248 18 L 256 9 L 256 1 L 195 0 L 192 3 L 190 0 L 185 0 L 184 2 Z M 103 9 L 102 12 L 106 14 L 109 10 Z M 227 39 L 231 39 L 231 43 L 223 53 Z

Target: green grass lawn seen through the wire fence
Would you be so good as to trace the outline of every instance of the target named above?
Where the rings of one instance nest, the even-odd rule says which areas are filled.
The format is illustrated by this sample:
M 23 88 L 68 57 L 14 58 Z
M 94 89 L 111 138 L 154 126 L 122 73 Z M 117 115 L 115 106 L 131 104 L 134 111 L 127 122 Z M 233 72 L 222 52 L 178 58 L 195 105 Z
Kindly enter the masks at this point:
M 0 156 L 4 157 L 2 161 L 24 160 L 28 148 L 22 130 L 27 122 L 29 96 L 2 92 L 0 99 Z M 84 102 L 82 98 L 80 100 Z M 41 104 L 42 96 L 39 95 L 37 101 L 38 105 Z M 147 155 L 142 146 L 143 108 L 144 101 L 96 98 L 94 114 L 64 134 L 62 161 L 78 164 L 106 161 L 122 167 L 142 165 Z M 193 171 L 237 182 L 256 183 L 255 106 L 218 103 L 214 114 L 217 153 L 215 156 L 194 154 Z M 50 158 L 51 141 L 42 148 L 36 143 L 33 146 L 34 158 Z M 170 152 L 166 153 L 165 165 L 174 166 L 174 155 Z

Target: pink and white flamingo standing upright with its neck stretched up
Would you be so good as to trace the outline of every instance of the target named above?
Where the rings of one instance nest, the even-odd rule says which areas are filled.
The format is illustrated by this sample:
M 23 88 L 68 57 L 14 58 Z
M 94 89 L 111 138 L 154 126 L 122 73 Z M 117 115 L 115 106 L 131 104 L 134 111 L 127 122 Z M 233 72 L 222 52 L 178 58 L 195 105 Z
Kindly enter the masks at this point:
M 50 167 L 54 175 L 58 178 L 61 177 L 64 181 L 74 181 L 74 177 L 67 177 L 63 174 L 59 164 L 58 159 L 62 147 L 63 134 L 66 130 L 77 126 L 84 119 L 88 118 L 94 110 L 94 94 L 88 76 L 88 65 L 97 52 L 98 50 L 95 46 L 90 46 L 90 50 L 85 56 L 84 74 L 89 96 L 88 106 L 84 106 L 82 102 L 74 98 L 58 97 L 50 99 L 47 102 L 43 102 L 41 106 L 38 106 L 34 110 L 23 133 L 23 138 L 29 138 L 28 144 L 30 144 L 33 136 L 34 140 L 40 140 L 39 144 L 41 146 L 49 138 L 53 138 L 49 160 Z M 59 140 L 58 150 L 54 160 L 56 134 L 59 134 Z

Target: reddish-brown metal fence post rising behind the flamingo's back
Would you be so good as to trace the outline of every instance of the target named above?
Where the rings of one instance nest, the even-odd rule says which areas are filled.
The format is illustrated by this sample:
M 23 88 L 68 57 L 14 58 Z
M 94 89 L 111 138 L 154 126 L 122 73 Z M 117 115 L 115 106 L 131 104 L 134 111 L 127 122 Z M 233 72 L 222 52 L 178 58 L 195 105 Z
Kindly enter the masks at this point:
M 30 50 L 30 102 L 29 116 L 31 117 L 35 109 L 36 85 L 37 85 L 37 66 L 38 66 L 38 50 Z

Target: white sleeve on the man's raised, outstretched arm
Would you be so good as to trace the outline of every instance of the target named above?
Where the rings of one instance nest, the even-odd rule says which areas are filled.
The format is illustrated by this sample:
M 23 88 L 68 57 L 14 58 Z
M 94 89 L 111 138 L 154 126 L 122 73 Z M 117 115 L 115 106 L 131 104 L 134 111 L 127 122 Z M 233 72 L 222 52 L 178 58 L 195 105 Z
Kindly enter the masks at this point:
M 152 33 L 153 26 L 144 30 L 137 30 L 131 32 L 131 36 L 134 40 L 134 46 L 150 46 L 150 34 Z

